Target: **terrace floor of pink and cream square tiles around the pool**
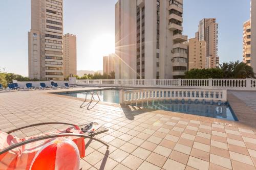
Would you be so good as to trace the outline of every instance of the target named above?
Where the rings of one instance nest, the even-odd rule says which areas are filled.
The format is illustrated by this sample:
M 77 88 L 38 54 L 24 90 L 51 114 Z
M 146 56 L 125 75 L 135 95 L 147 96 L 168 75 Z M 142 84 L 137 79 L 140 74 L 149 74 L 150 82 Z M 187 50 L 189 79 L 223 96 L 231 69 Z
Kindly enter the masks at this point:
M 87 140 L 82 169 L 256 169 L 254 128 L 214 124 L 216 119 L 92 104 L 44 94 L 48 91 L 0 92 L 0 129 L 40 122 L 97 122 L 109 127 L 98 135 L 111 146 Z M 80 107 L 81 106 L 81 107 Z M 135 109 L 135 110 L 134 110 Z M 236 124 L 231 124 L 236 125 Z M 25 137 L 62 126 L 29 128 Z

